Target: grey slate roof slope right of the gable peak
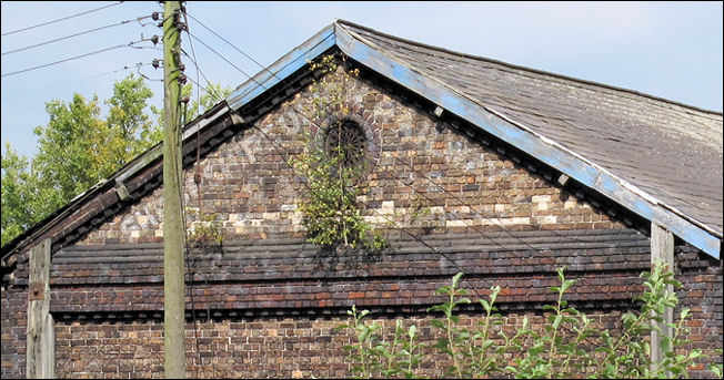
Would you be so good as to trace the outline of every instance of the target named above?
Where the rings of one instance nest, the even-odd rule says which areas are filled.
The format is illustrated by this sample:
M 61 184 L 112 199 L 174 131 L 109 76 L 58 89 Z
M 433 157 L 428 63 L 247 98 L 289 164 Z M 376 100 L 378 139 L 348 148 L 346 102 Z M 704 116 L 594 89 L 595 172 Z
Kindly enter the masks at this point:
M 339 23 L 722 235 L 721 113 Z

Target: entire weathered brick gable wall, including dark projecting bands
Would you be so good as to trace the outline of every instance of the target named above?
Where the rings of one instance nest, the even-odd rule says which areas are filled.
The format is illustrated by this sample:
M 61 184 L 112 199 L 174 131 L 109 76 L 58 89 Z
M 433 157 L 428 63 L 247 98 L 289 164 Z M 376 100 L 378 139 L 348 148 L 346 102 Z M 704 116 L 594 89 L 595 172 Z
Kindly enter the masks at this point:
M 360 185 L 368 191 L 359 201 L 390 247 L 371 254 L 304 243 L 305 185 L 290 162 L 306 146 L 304 135 L 325 124 L 303 115 L 316 95 L 293 95 L 185 170 L 189 230 L 214 215 L 223 236 L 188 256 L 188 308 L 213 317 L 187 325 L 189 377 L 350 377 L 343 346 L 351 336 L 333 330 L 345 310 L 369 308 L 388 331 L 399 316 L 429 326 L 423 312 L 444 301 L 434 290 L 459 271 L 481 297 L 492 285 L 503 288 L 499 307 L 511 327 L 522 315 L 541 326 L 561 266 L 579 279 L 566 299 L 600 326 L 615 328 L 635 308 L 650 242 L 607 215 L 616 213 L 577 201 L 504 146 L 471 138 L 369 78 L 339 70 L 325 80 L 328 90 L 344 89 L 350 113 L 338 116 L 366 136 L 370 166 Z M 53 254 L 59 377 L 162 377 L 162 187 L 153 189 Z M 711 353 L 722 347 L 722 263 L 688 247 L 677 247 L 676 258 L 682 306 L 693 311 L 692 346 Z M 27 261 L 19 255 L 14 278 L 3 281 L 3 378 L 24 373 Z M 431 329 L 422 333 L 435 339 Z M 422 374 L 440 373 L 445 361 L 436 359 Z M 704 366 L 716 360 L 693 374 L 710 376 Z

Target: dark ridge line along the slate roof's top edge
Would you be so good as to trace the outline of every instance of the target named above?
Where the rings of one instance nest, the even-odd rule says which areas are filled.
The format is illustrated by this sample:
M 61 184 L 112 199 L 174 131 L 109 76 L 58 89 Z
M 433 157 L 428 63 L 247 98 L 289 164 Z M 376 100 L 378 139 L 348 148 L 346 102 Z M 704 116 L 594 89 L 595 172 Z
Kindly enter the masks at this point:
M 491 59 L 491 58 L 486 58 L 486 57 L 482 57 L 482 55 L 462 53 L 462 52 L 459 52 L 459 51 L 449 50 L 449 49 L 445 49 L 445 48 L 435 47 L 435 45 L 431 45 L 431 44 L 428 44 L 428 43 L 404 39 L 404 38 L 393 35 L 393 34 L 389 34 L 389 33 L 385 33 L 385 32 L 380 32 L 380 31 L 378 31 L 375 29 L 364 27 L 364 25 L 361 25 L 361 24 L 358 24 L 358 23 L 354 23 L 354 22 L 351 22 L 351 21 L 348 21 L 348 20 L 343 20 L 343 19 L 335 19 L 334 23 L 341 24 L 342 27 L 349 25 L 349 27 L 358 28 L 358 29 L 361 29 L 361 30 L 364 30 L 364 31 L 368 31 L 368 32 L 372 32 L 372 33 L 375 33 L 375 34 L 379 34 L 379 35 L 382 35 L 382 37 L 385 37 L 385 38 L 389 38 L 389 39 L 393 39 L 393 40 L 396 40 L 396 41 L 400 41 L 400 42 L 404 42 L 404 43 L 409 43 L 409 44 L 416 45 L 416 47 L 420 47 L 420 48 L 431 49 L 431 50 L 435 50 L 435 51 L 440 51 L 440 52 L 444 52 L 444 53 L 449 53 L 449 54 L 454 54 L 454 55 L 459 55 L 459 57 L 462 57 L 462 58 L 491 62 L 491 63 L 504 65 L 504 66 L 515 69 L 515 70 L 529 71 L 529 72 L 533 72 L 533 73 L 536 73 L 536 74 L 542 74 L 542 75 L 547 75 L 547 76 L 554 76 L 554 78 L 557 78 L 557 79 L 563 79 L 563 80 L 566 80 L 566 81 L 573 81 L 573 82 L 579 82 L 579 83 L 589 84 L 589 85 L 595 85 L 595 86 L 600 86 L 600 88 L 604 88 L 604 89 L 609 89 L 609 90 L 626 92 L 626 93 L 630 93 L 630 94 L 633 94 L 633 95 L 647 97 L 650 100 L 664 102 L 664 103 L 668 103 L 668 104 L 674 104 L 674 105 L 677 105 L 677 106 L 683 106 L 683 107 L 686 107 L 686 109 L 695 110 L 695 111 L 707 113 L 707 114 L 715 114 L 715 115 L 720 115 L 720 116 L 724 115 L 723 112 L 702 109 L 702 107 L 698 107 L 698 106 L 695 106 L 695 105 L 685 104 L 685 103 L 677 102 L 677 101 L 672 101 L 672 100 L 668 100 L 668 99 L 665 99 L 665 97 L 647 94 L 647 93 L 640 92 L 640 91 L 636 91 L 636 90 L 619 88 L 619 86 L 611 85 L 611 84 L 605 84 L 605 83 L 594 82 L 594 81 L 579 79 L 579 78 L 574 78 L 574 76 L 569 76 L 569 75 L 564 75 L 564 74 L 553 73 L 553 72 L 549 72 L 549 71 L 544 71 L 544 70 L 540 70 L 540 69 L 527 68 L 527 66 L 523 66 L 523 65 L 519 65 L 519 64 L 514 64 L 514 63 L 507 63 L 507 62 L 504 62 L 504 61 L 500 61 L 500 60 L 495 60 L 495 59 Z

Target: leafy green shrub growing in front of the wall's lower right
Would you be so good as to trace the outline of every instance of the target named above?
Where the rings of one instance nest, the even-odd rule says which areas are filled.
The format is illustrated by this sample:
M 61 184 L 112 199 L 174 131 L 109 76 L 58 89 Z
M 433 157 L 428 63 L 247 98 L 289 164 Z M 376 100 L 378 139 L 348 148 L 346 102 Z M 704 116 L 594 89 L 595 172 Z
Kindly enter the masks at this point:
M 466 297 L 467 291 L 459 288 L 463 274 L 456 274 L 450 286 L 439 288 L 436 294 L 448 296 L 448 300 L 429 309 L 444 316 L 431 321 L 431 326 L 441 331 L 433 348 L 450 358 L 450 366 L 439 376 L 552 379 L 577 378 L 587 373 L 589 378 L 606 379 L 687 378 L 691 366 L 704 357 L 698 349 L 683 351 L 688 343 L 682 339 L 687 333 L 685 320 L 688 309 L 682 309 L 678 321 L 668 325 L 673 330 L 672 337 L 660 337 L 663 359 L 656 363 L 651 361 L 648 336 L 652 330 L 658 329 L 653 321 L 661 322 L 665 308 L 673 308 L 678 302 L 675 292 L 667 286 L 681 287 L 661 263 L 651 273 L 641 275 L 645 290 L 635 298 L 642 302 L 641 309 L 622 316 L 623 329 L 616 337 L 606 329 L 594 330 L 585 314 L 569 307 L 564 295 L 575 280 L 566 279 L 564 270 L 556 270 L 561 285 L 551 287 L 557 294 L 557 299 L 555 305 L 544 307 L 550 315 L 543 328 L 532 329 L 527 318 L 524 318 L 522 327 L 510 338 L 499 329 L 503 321 L 494 307 L 500 287 L 491 288 L 487 300 L 477 300 L 484 314 L 473 328 L 461 326 L 456 315 L 459 306 L 472 304 Z M 408 346 L 401 345 L 403 321 L 396 321 L 393 339 L 388 342 L 382 339 L 380 325 L 360 322 L 369 316 L 368 310 L 358 315 L 353 307 L 350 315 L 354 316 L 354 325 L 342 325 L 341 328 L 353 327 L 359 331 L 356 343 L 345 348 L 354 352 L 354 373 L 365 378 L 401 374 L 409 378 L 416 373 L 412 369 L 405 370 L 405 366 L 420 366 L 431 360 L 420 351 L 424 345 L 413 343 L 413 340 Z M 415 331 L 416 327 L 413 326 L 408 332 L 413 337 Z M 499 339 L 493 338 L 495 335 Z M 522 357 L 503 367 L 503 355 L 516 352 Z M 716 352 L 721 353 L 721 350 Z M 360 364 L 362 360 L 364 362 Z M 714 376 L 722 377 L 721 363 L 711 364 L 708 369 Z

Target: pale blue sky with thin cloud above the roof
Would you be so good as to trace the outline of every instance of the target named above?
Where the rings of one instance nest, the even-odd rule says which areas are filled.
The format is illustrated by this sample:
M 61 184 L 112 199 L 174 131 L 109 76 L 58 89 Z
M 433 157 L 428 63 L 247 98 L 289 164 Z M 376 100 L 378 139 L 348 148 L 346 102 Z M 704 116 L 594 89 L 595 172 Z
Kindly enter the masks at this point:
M 16 30 L 80 12 L 105 9 L 48 25 Z M 189 14 L 263 65 L 273 63 L 335 19 L 352 21 L 408 40 L 531 69 L 638 91 L 704 110 L 722 112 L 722 2 L 225 2 L 188 1 Z M 6 143 L 31 157 L 33 129 L 48 123 L 46 102 L 110 97 L 113 83 L 144 63 L 140 73 L 162 106 L 160 44 L 127 45 L 161 35 L 148 17 L 155 1 L 2 1 L 0 43 L 2 152 Z M 132 20 L 132 21 L 129 21 Z M 124 22 L 125 21 L 125 22 Z M 261 68 L 189 20 L 189 31 L 248 74 Z M 34 44 L 109 25 L 58 42 Z M 113 27 L 110 27 L 113 25 Z M 198 40 L 182 35 L 208 79 L 235 88 L 248 78 Z M 104 52 L 12 74 L 68 58 Z M 191 49 L 193 48 L 193 49 Z M 187 74 L 195 80 L 188 59 Z M 201 79 L 201 83 L 205 81 Z

